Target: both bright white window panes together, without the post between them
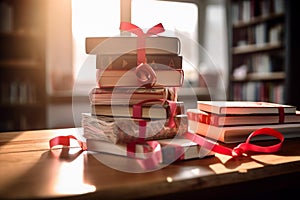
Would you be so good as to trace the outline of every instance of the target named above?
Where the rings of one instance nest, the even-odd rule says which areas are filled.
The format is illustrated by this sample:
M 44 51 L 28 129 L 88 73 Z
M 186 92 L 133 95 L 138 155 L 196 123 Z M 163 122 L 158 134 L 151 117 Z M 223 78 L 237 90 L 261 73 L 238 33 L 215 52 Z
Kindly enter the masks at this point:
M 163 34 L 181 37 L 180 40 L 197 41 L 198 9 L 193 3 L 132 0 L 131 22 L 146 29 L 162 23 L 166 29 Z M 93 73 L 89 71 L 91 69 L 82 67 L 95 65 L 95 57 L 84 53 L 85 37 L 117 35 L 119 25 L 120 0 L 105 1 L 105 3 L 99 0 L 72 0 L 73 63 L 75 79 L 79 79 L 77 81 L 82 83 L 94 81 L 90 76 Z M 186 43 L 182 42 L 182 44 Z M 190 48 L 183 45 L 181 53 L 195 52 Z M 187 62 L 184 62 L 183 66 L 187 68 Z M 78 76 L 79 71 L 81 73 Z

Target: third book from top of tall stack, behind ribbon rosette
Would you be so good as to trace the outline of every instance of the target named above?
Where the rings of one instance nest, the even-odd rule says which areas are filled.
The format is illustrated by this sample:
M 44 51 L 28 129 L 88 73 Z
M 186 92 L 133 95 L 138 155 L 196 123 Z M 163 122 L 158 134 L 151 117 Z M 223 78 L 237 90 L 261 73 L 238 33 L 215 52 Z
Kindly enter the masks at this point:
M 143 87 L 134 70 L 97 70 L 98 86 L 106 87 Z M 177 70 L 155 70 L 156 83 L 153 87 L 181 87 L 184 72 Z

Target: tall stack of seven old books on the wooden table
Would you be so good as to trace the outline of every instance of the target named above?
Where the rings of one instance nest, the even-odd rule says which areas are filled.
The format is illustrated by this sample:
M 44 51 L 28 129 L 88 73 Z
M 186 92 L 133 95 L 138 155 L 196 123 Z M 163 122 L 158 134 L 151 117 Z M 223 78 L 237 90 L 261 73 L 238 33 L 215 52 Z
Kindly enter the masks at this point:
M 89 93 L 91 112 L 82 113 L 88 150 L 128 156 L 127 145 L 142 138 L 161 144 L 161 162 L 198 158 L 199 145 L 178 137 L 188 130 L 184 104 L 177 101 L 184 78 L 179 39 L 146 38 L 146 61 L 156 74 L 151 87 L 137 79 L 137 51 L 137 37 L 86 38 L 86 53 L 96 55 L 97 73 L 97 87 Z M 147 102 L 136 117 L 134 106 L 142 101 Z M 175 126 L 170 126 L 170 120 Z M 136 144 L 135 157 L 143 158 L 147 148 L 147 143 Z

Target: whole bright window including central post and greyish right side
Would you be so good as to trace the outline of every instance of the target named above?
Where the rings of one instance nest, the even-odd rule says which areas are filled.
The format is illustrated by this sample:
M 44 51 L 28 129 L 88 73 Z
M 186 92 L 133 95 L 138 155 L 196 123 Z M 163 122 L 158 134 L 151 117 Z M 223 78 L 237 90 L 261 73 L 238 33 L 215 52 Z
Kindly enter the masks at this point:
M 120 1 L 130 4 L 122 10 Z M 210 3 L 212 2 L 212 3 Z M 219 71 L 226 80 L 225 3 L 222 1 L 72 0 L 73 64 L 77 82 L 94 83 L 95 56 L 85 54 L 85 37 L 115 36 L 121 20 L 148 29 L 162 23 L 163 35 L 179 37 L 185 80 L 199 84 L 199 72 Z M 199 45 L 199 41 L 201 45 Z M 203 55 L 205 58 L 203 58 Z M 207 56 L 208 55 L 208 56 Z M 212 57 L 213 56 L 213 57 Z M 89 67 L 82 67 L 89 66 Z M 213 72 L 215 73 L 215 72 Z M 226 84 L 226 83 L 225 83 Z M 224 83 L 223 83 L 224 85 Z M 221 98 L 225 98 L 224 95 Z

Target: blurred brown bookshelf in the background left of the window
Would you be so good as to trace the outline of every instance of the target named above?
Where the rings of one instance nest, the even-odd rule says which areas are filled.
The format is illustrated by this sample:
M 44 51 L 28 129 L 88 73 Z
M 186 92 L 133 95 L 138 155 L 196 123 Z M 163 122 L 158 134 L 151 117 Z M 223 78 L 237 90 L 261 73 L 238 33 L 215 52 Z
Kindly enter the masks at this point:
M 46 127 L 46 2 L 0 0 L 0 131 Z

